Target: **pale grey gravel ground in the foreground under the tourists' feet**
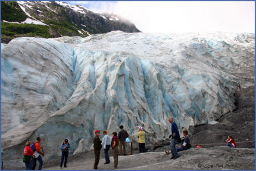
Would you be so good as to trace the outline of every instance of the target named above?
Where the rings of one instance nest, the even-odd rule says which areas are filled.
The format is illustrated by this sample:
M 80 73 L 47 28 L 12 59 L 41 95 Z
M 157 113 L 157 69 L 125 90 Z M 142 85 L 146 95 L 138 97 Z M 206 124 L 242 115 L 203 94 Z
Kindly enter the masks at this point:
M 102 151 L 103 152 L 103 151 Z M 102 153 L 101 152 L 101 153 Z M 111 151 L 109 151 L 111 153 Z M 170 155 L 164 151 L 145 152 L 131 156 L 118 156 L 118 170 L 254 170 L 254 148 L 210 147 L 201 149 L 188 149 L 179 152 L 180 158 L 170 160 Z M 99 170 L 113 169 L 113 156 L 111 163 L 104 165 L 104 156 L 101 154 Z M 93 152 L 76 160 L 68 161 L 65 170 L 92 170 L 94 163 Z M 56 163 L 57 164 L 57 163 Z M 44 170 L 64 170 L 56 166 L 44 167 Z

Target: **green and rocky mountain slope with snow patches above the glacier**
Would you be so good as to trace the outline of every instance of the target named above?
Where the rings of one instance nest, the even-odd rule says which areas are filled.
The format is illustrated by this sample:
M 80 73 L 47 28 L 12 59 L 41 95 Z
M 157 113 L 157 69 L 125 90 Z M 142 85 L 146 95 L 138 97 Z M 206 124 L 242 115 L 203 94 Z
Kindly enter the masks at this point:
M 60 1 L 2 1 L 1 4 L 2 43 L 8 43 L 12 38 L 20 36 L 57 38 L 85 37 L 116 30 L 127 33 L 140 32 L 129 20 L 121 19 L 114 14 L 95 13 L 80 5 Z M 17 22 L 21 22 L 20 26 Z M 36 27 L 46 33 L 36 33 L 33 29 L 24 27 Z M 24 31 L 19 33 L 22 28 Z

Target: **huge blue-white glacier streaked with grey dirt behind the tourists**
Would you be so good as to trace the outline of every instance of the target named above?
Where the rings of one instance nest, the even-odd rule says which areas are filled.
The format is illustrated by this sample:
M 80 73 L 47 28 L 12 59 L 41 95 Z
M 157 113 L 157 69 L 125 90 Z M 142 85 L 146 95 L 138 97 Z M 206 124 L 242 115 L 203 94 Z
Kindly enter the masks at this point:
M 234 93 L 252 85 L 250 33 L 15 38 L 1 47 L 1 156 L 22 158 L 36 137 L 44 161 L 60 156 L 64 138 L 72 152 L 87 151 L 95 130 L 120 124 L 133 142 L 143 126 L 146 145 L 161 145 L 168 117 L 191 134 L 235 110 Z

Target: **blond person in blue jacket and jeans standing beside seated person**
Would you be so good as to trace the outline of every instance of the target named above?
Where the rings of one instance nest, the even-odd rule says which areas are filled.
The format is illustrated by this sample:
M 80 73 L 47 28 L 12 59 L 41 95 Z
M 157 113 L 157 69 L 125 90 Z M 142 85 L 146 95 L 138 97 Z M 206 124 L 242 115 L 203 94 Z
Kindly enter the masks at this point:
M 171 154 L 172 157 L 170 158 L 171 160 L 175 160 L 179 158 L 179 154 L 177 152 L 177 149 L 175 148 L 175 145 L 178 143 L 178 139 L 180 138 L 180 133 L 178 130 L 177 124 L 173 123 L 173 117 L 169 117 L 169 123 L 172 124 L 172 135 L 170 135 L 169 138 L 172 137 L 171 142 L 170 142 L 170 149 L 171 149 Z

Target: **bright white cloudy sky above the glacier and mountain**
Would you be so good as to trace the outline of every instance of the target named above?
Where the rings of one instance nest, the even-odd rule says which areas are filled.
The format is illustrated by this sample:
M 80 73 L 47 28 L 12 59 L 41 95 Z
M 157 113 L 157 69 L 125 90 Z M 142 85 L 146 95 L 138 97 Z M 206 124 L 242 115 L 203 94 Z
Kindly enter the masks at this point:
M 254 1 L 67 1 L 131 20 L 145 33 L 255 33 Z

